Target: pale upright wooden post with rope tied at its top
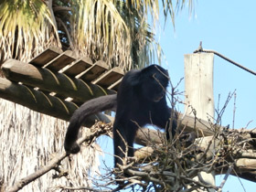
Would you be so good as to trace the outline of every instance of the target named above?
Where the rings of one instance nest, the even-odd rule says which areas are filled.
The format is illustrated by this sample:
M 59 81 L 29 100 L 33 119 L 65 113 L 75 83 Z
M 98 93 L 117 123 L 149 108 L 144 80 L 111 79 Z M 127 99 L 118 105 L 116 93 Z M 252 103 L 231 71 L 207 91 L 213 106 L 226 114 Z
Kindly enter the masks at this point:
M 193 115 L 191 112 L 194 109 L 197 118 L 206 121 L 214 118 L 213 58 L 213 53 L 185 55 L 185 112 Z M 200 174 L 206 183 L 215 186 L 214 173 L 201 172 Z

